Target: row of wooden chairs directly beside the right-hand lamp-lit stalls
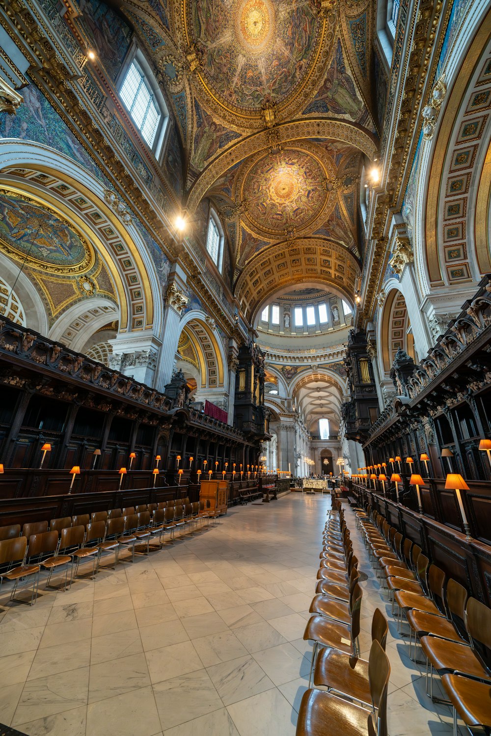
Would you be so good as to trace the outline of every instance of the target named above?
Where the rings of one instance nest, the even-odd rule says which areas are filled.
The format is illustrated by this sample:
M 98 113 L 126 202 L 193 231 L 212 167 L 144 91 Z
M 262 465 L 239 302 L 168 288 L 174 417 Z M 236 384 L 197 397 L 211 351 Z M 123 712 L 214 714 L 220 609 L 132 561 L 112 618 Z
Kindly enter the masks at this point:
M 426 658 L 426 692 L 433 701 L 453 706 L 453 733 L 457 714 L 468 729 L 491 729 L 491 609 L 444 570 L 430 562 L 418 545 L 404 539 L 385 518 L 367 508 L 358 509 L 358 525 L 382 581 L 398 606 L 401 634 L 409 625 L 409 655 L 414 636 Z M 434 672 L 441 677 L 448 700 L 433 694 Z M 428 691 L 429 684 L 429 691 Z

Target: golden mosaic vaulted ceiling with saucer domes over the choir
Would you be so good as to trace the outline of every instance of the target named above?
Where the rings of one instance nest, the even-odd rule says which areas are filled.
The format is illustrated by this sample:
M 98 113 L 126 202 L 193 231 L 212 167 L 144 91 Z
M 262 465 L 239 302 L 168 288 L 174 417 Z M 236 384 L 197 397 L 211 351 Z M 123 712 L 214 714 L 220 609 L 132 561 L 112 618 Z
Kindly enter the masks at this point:
M 301 283 L 314 271 L 353 294 L 359 177 L 378 146 L 374 1 L 117 4 L 174 107 L 183 208 L 192 219 L 208 198 L 222 216 L 244 311 L 261 302 L 254 271 L 269 294 L 286 276 Z M 269 280 L 263 263 L 272 265 Z

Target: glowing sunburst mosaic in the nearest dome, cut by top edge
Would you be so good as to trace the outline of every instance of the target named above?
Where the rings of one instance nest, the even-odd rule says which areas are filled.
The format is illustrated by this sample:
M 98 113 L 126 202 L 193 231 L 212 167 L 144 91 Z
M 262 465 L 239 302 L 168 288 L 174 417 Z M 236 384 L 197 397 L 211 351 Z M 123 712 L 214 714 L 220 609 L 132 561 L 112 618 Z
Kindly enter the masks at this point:
M 283 104 L 313 68 L 322 23 L 310 1 L 188 0 L 186 28 L 208 91 L 229 110 Z

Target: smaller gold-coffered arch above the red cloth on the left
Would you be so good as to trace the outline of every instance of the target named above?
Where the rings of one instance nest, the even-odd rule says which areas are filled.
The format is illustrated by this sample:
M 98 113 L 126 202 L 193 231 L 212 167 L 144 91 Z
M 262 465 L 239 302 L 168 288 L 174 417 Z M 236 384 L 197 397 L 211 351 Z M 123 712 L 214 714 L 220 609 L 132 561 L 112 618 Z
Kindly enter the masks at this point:
M 228 390 L 227 356 L 216 326 L 210 322 L 208 314 L 197 309 L 188 311 L 180 320 L 174 352 L 180 334 L 186 328 L 198 356 L 201 388 L 219 389 L 225 394 Z

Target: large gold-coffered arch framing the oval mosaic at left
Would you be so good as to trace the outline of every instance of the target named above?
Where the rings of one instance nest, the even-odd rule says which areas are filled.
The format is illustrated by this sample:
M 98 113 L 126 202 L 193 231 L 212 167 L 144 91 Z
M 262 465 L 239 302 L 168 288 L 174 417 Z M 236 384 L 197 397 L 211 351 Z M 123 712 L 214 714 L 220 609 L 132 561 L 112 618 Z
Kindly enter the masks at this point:
M 105 185 L 54 149 L 6 139 L 0 144 L 0 186 L 7 185 L 60 210 L 99 253 L 116 288 L 120 333 L 160 334 L 163 304 L 155 265 L 135 223 L 123 224 L 105 202 Z

